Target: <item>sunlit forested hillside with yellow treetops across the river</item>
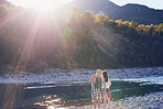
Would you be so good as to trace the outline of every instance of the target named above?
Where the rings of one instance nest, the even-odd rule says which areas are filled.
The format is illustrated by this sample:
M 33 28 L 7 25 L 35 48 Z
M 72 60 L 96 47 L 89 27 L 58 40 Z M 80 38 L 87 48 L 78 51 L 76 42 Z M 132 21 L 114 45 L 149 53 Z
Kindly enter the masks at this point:
M 39 13 L 8 9 L 0 19 L 0 64 L 57 68 L 163 65 L 163 24 L 143 25 L 73 9 Z M 0 11 L 1 12 L 1 11 Z

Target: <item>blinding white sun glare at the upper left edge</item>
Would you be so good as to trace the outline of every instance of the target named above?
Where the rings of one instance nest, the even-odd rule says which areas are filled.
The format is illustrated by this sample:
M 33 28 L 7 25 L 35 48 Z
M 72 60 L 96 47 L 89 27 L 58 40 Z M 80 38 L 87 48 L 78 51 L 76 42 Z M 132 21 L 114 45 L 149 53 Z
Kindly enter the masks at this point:
M 9 2 L 35 10 L 52 10 L 67 3 L 70 0 L 8 0 Z

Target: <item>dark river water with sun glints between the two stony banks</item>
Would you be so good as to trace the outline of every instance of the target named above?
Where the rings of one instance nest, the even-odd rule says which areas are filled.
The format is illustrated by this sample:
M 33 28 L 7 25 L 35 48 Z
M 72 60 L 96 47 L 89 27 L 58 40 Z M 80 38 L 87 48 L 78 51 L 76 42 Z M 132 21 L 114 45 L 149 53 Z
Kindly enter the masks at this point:
M 144 96 L 163 90 L 162 85 L 144 83 L 112 81 L 111 100 L 124 97 Z M 45 109 L 86 106 L 90 101 L 90 84 L 56 86 L 54 84 L 0 84 L 0 109 Z

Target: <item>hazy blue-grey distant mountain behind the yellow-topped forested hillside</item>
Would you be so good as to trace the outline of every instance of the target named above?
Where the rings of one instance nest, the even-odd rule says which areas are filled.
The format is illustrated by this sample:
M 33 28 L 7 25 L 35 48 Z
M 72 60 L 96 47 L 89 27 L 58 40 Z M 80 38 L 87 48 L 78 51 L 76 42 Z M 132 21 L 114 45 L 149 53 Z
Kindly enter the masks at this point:
M 142 4 L 128 3 L 119 7 L 110 0 L 74 0 L 67 4 L 78 8 L 82 12 L 91 10 L 95 13 L 105 13 L 111 20 L 135 21 L 140 24 L 163 23 L 163 11 L 148 8 Z

